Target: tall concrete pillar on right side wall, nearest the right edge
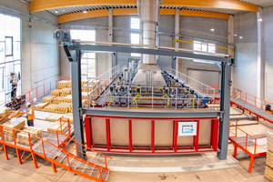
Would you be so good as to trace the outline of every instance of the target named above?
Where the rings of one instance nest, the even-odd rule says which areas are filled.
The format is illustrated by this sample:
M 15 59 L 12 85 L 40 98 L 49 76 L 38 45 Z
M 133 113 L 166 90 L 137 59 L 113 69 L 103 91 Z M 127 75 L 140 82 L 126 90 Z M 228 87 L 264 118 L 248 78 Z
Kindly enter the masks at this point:
M 258 7 L 257 13 L 257 25 L 258 25 L 258 55 L 257 55 L 257 96 L 259 98 L 265 98 L 265 61 L 263 54 L 264 45 L 264 24 L 263 21 L 258 21 L 258 18 L 263 18 L 263 9 Z

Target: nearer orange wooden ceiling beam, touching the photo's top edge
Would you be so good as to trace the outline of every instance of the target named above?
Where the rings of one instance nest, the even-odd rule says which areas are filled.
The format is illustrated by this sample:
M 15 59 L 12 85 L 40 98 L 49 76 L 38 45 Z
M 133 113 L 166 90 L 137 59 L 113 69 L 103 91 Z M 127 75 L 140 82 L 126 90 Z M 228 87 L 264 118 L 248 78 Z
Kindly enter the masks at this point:
M 136 5 L 136 0 L 33 0 L 29 12 L 85 5 Z M 258 6 L 238 0 L 164 0 L 162 5 L 205 7 L 258 12 Z

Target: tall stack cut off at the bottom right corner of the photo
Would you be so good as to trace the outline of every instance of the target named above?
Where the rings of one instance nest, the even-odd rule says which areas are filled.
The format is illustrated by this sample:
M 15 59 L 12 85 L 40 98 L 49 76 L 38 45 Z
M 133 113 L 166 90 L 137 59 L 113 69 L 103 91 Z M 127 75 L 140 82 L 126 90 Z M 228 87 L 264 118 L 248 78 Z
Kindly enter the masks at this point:
M 268 131 L 268 152 L 265 177 L 273 182 L 273 131 Z

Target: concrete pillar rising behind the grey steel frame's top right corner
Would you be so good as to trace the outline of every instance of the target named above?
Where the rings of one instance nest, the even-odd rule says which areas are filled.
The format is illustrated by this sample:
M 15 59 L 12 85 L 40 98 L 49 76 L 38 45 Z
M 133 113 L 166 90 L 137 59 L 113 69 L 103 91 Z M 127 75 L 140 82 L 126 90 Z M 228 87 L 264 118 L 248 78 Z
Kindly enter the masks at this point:
M 235 48 L 234 46 L 234 16 L 229 15 L 228 19 L 228 27 L 227 27 L 227 43 L 230 45 L 227 45 L 228 48 Z M 235 51 L 227 50 L 227 55 L 230 55 L 232 58 L 234 58 Z M 231 80 L 233 80 L 233 66 L 231 67 Z M 231 86 L 232 88 L 232 86 Z

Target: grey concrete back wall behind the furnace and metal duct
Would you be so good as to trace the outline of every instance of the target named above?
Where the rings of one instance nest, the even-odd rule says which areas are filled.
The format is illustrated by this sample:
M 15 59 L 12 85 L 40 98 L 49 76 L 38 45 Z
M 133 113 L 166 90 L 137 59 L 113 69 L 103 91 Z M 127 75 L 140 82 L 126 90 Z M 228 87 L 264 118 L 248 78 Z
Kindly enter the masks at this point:
M 114 16 L 113 18 L 113 26 L 115 29 L 113 30 L 113 41 L 118 43 L 130 43 L 130 15 L 119 15 Z M 97 18 L 89 18 L 84 20 L 77 20 L 72 22 L 67 22 L 61 24 L 64 26 L 67 31 L 71 29 L 71 26 L 85 26 L 86 29 L 91 28 L 88 26 L 96 26 L 96 41 L 107 41 L 107 17 L 97 17 Z M 227 20 L 224 19 L 214 19 L 213 24 L 216 29 L 215 32 L 210 31 L 210 24 L 212 19 L 206 17 L 193 17 L 193 16 L 180 16 L 180 34 L 181 35 L 189 35 L 192 37 L 183 37 L 183 40 L 187 39 L 188 41 L 193 41 L 193 37 L 199 37 L 203 39 L 211 39 L 212 43 L 216 43 L 220 46 L 227 46 L 222 44 L 221 42 L 227 43 Z M 162 46 L 172 46 L 173 45 L 173 34 L 175 33 L 175 16 L 174 15 L 160 15 L 159 16 L 159 26 L 158 32 L 163 33 L 158 35 L 159 45 Z M 193 45 L 191 44 L 180 44 L 182 48 L 193 49 Z M 226 50 L 217 49 L 218 53 L 227 54 Z M 111 63 L 107 59 L 107 56 L 103 56 L 104 54 L 98 54 L 96 58 L 97 62 L 97 74 L 96 76 L 109 69 Z M 130 54 L 128 53 L 117 53 L 117 64 L 120 66 L 126 65 Z M 62 76 L 69 76 L 69 65 L 67 64 L 67 58 L 64 54 L 64 51 L 61 50 L 61 70 Z M 158 56 L 157 64 L 161 68 L 170 68 L 172 63 L 172 57 L 170 56 Z M 179 71 L 187 74 L 187 68 L 191 69 L 206 69 L 219 71 L 219 67 L 215 64 L 203 64 L 196 63 L 192 60 L 183 60 L 179 59 L 179 67 L 177 68 Z

